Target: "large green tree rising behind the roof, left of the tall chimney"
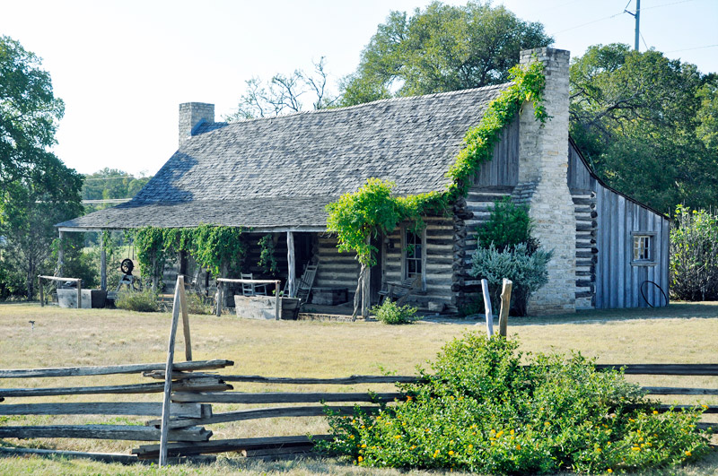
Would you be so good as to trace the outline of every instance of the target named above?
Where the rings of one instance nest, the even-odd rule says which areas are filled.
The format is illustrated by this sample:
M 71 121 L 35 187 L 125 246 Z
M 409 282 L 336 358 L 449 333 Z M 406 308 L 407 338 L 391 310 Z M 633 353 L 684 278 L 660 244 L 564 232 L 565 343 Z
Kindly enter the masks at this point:
M 503 5 L 433 2 L 413 16 L 391 12 L 344 78 L 340 105 L 507 82 L 522 49 L 552 42 L 541 23 Z

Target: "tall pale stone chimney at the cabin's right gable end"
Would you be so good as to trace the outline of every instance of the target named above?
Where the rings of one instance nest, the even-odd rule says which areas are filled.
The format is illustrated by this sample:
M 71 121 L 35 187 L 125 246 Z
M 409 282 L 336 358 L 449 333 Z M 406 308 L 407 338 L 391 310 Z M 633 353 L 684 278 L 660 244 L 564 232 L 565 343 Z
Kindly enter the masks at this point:
M 520 117 L 519 184 L 517 202 L 528 203 L 533 235 L 553 249 L 548 282 L 529 301 L 531 314 L 576 310 L 576 218 L 568 189 L 568 60 L 563 49 L 521 51 L 521 65 L 544 64 L 544 106 L 549 119 L 541 125 L 533 105 L 524 104 Z

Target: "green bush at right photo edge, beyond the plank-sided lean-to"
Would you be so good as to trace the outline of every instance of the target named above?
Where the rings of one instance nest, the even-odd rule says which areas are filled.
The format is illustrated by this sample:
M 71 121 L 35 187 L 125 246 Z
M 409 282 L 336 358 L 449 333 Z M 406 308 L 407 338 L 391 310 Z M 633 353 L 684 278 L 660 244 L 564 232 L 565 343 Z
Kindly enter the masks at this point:
M 718 299 L 718 215 L 679 206 L 670 230 L 670 295 Z

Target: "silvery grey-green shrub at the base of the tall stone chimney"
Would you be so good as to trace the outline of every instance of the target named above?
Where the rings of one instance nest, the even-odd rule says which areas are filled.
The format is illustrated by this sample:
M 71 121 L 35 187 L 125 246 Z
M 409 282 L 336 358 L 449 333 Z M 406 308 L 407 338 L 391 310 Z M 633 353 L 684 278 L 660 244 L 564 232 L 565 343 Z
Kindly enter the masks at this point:
M 537 249 L 530 253 L 525 243 L 499 251 L 493 244 L 479 247 L 471 258 L 471 275 L 484 279 L 493 287 L 492 301 L 498 309 L 503 278 L 513 281 L 511 309 L 514 316 L 526 316 L 531 294 L 548 282 L 547 264 L 552 251 Z

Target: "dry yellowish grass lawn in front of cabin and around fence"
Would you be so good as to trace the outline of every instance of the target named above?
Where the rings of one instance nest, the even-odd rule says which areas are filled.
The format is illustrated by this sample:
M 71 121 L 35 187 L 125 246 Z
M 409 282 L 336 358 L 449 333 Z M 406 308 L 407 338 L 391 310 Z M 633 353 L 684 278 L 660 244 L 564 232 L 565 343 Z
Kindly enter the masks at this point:
M 35 321 L 31 331 L 29 321 Z M 425 365 L 442 345 L 467 330 L 484 330 L 466 321 L 437 321 L 407 326 L 381 323 L 251 321 L 235 316 L 191 316 L 195 359 L 232 359 L 225 374 L 264 376 L 349 376 L 379 374 L 381 370 L 413 374 Z M 40 308 L 38 305 L 0 305 L 0 368 L 41 368 L 163 362 L 166 359 L 169 314 L 142 314 L 107 309 Z M 600 363 L 716 363 L 718 304 L 673 304 L 663 309 L 591 311 L 572 316 L 522 318 L 510 322 L 510 334 L 521 341 L 524 351 L 581 351 Z M 178 358 L 183 356 L 178 333 Z M 144 383 L 142 376 L 95 376 L 64 379 L 4 380 L 4 387 L 120 385 Z M 714 377 L 642 377 L 646 385 L 690 385 L 718 387 Z M 367 385 L 289 386 L 234 385 L 235 390 L 332 390 L 363 391 Z M 390 390 L 373 385 L 372 390 Z M 11 399 L 7 399 L 10 402 Z M 160 394 L 86 395 L 45 397 L 23 402 L 160 402 Z M 693 402 L 667 397 L 666 402 Z M 718 403 L 715 397 L 701 399 Z M 2 403 L 0 403 L 2 404 Z M 246 408 L 246 407 L 245 407 Z M 215 411 L 240 409 L 239 405 L 215 405 Z M 146 417 L 96 416 L 0 417 L 0 424 L 143 424 Z M 320 418 L 250 420 L 209 427 L 215 438 L 258 437 L 321 433 Z M 134 442 L 45 439 L 0 441 L 2 445 L 56 447 L 81 451 L 122 452 Z M 0 457 L 0 474 L 154 474 L 151 467 L 123 467 L 81 461 Z M 186 465 L 171 474 L 399 474 L 362 470 L 333 460 L 311 459 L 285 462 L 246 461 L 229 454 L 217 463 Z M 165 472 L 162 472 L 164 474 Z M 697 465 L 670 472 L 650 474 L 708 475 L 718 473 L 715 454 Z M 423 474 L 416 472 L 416 474 Z

